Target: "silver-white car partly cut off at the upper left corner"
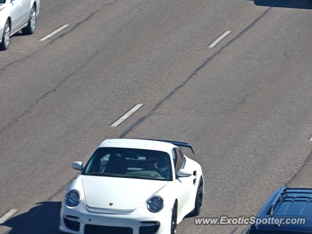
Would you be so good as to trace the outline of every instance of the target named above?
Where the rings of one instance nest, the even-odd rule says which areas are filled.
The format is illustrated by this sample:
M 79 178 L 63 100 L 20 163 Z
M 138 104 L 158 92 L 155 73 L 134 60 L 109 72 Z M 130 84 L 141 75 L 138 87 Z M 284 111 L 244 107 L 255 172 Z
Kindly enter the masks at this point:
M 40 0 L 0 0 L 0 49 L 9 47 L 10 37 L 22 30 L 33 34 Z

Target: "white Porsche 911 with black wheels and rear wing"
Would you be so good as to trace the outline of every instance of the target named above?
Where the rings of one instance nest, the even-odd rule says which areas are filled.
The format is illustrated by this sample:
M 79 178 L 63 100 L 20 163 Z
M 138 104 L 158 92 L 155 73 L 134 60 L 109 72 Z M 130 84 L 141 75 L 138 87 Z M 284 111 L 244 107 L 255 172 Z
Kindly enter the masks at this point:
M 204 178 L 200 165 L 178 147 L 188 143 L 107 139 L 67 189 L 60 232 L 174 234 L 186 215 L 198 215 Z

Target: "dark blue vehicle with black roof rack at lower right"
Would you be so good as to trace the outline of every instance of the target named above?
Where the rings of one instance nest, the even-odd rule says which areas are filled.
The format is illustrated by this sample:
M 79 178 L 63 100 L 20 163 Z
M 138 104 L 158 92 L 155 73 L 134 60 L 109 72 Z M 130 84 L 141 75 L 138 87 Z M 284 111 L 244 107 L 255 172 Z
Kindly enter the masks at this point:
M 247 234 L 312 234 L 312 189 L 278 188 L 264 204 L 257 218 L 283 218 L 288 221 L 300 218 L 304 224 L 253 224 Z

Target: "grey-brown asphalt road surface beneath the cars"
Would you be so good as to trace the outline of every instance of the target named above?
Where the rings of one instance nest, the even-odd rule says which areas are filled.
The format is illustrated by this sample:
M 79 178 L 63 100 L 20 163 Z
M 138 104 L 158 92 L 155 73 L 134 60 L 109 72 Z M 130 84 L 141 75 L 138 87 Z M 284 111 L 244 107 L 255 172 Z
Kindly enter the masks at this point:
M 200 216 L 256 215 L 277 187 L 312 187 L 311 9 L 309 0 L 42 0 L 36 33 L 0 52 L 0 216 L 18 210 L 0 233 L 57 233 L 71 162 L 106 138 L 192 143 L 196 155 L 185 153 L 205 176 Z M 177 233 L 243 228 L 185 218 Z

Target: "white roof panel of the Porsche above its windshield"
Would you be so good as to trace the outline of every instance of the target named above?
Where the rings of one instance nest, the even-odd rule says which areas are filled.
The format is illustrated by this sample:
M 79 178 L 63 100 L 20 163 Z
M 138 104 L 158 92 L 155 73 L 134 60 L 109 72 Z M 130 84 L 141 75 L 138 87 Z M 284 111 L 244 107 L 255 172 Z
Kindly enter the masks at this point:
M 167 152 L 171 155 L 172 149 L 175 145 L 163 141 L 156 140 L 143 140 L 143 139 L 107 139 L 104 140 L 99 146 L 101 147 L 116 147 L 116 148 L 133 148 L 145 150 L 157 150 Z

